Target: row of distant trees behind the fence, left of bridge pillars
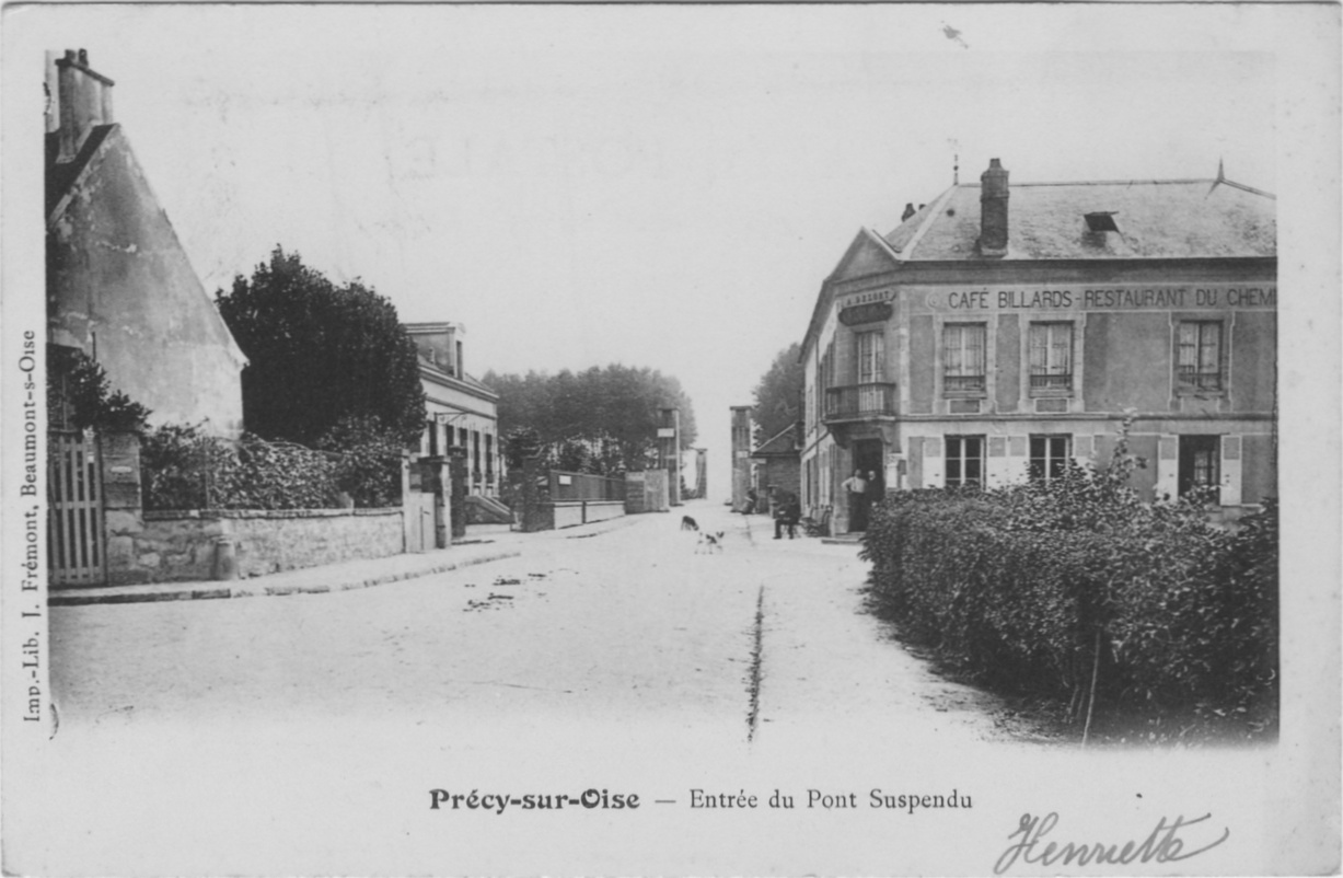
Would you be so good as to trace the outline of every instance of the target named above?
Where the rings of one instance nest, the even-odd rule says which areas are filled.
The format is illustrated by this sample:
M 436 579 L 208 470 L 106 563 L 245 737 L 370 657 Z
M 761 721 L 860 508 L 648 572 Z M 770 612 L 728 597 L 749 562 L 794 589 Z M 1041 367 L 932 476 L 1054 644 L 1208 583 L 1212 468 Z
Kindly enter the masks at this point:
M 514 471 L 529 455 L 576 473 L 643 470 L 657 458 L 663 408 L 681 411 L 681 447 L 694 444 L 690 397 L 677 379 L 655 369 L 608 365 L 525 376 L 492 371 L 482 381 L 500 395 L 504 448 Z

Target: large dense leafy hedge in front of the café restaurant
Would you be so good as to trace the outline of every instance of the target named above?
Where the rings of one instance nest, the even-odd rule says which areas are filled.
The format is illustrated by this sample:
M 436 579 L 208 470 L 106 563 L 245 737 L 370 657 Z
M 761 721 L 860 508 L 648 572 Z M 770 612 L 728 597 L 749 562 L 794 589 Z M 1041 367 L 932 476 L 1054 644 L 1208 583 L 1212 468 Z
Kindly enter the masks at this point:
M 1125 446 L 1048 483 L 892 495 L 864 538 L 873 609 L 960 675 L 1070 718 L 1095 705 L 1273 728 L 1276 503 L 1234 533 L 1209 524 L 1206 497 L 1144 503 Z

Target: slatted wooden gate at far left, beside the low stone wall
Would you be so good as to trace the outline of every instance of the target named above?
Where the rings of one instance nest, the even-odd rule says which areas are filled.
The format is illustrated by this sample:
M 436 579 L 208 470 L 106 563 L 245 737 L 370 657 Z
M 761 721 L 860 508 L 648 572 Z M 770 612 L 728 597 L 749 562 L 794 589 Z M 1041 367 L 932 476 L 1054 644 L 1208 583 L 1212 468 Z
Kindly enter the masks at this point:
M 47 486 L 51 584 L 102 585 L 106 583 L 106 530 L 97 439 L 78 432 L 52 432 L 47 448 Z

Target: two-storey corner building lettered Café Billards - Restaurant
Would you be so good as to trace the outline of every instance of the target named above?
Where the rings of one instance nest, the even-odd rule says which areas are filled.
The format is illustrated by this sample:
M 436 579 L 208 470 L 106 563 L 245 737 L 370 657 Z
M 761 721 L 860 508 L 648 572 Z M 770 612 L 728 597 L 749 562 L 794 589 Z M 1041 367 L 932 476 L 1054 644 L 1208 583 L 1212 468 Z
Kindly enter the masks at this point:
M 1131 416 L 1147 498 L 1277 490 L 1272 195 L 1226 180 L 978 184 L 864 230 L 807 328 L 803 502 L 1104 465 Z

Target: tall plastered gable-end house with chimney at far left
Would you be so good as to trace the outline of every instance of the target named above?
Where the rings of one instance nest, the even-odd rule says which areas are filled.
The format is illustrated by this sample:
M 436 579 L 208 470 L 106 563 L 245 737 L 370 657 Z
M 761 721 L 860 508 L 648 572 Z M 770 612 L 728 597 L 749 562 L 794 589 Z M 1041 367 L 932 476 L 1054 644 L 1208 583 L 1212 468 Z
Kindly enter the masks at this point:
M 83 50 L 48 62 L 47 342 L 95 360 L 153 423 L 236 436 L 247 360 L 113 121 L 111 87 Z

